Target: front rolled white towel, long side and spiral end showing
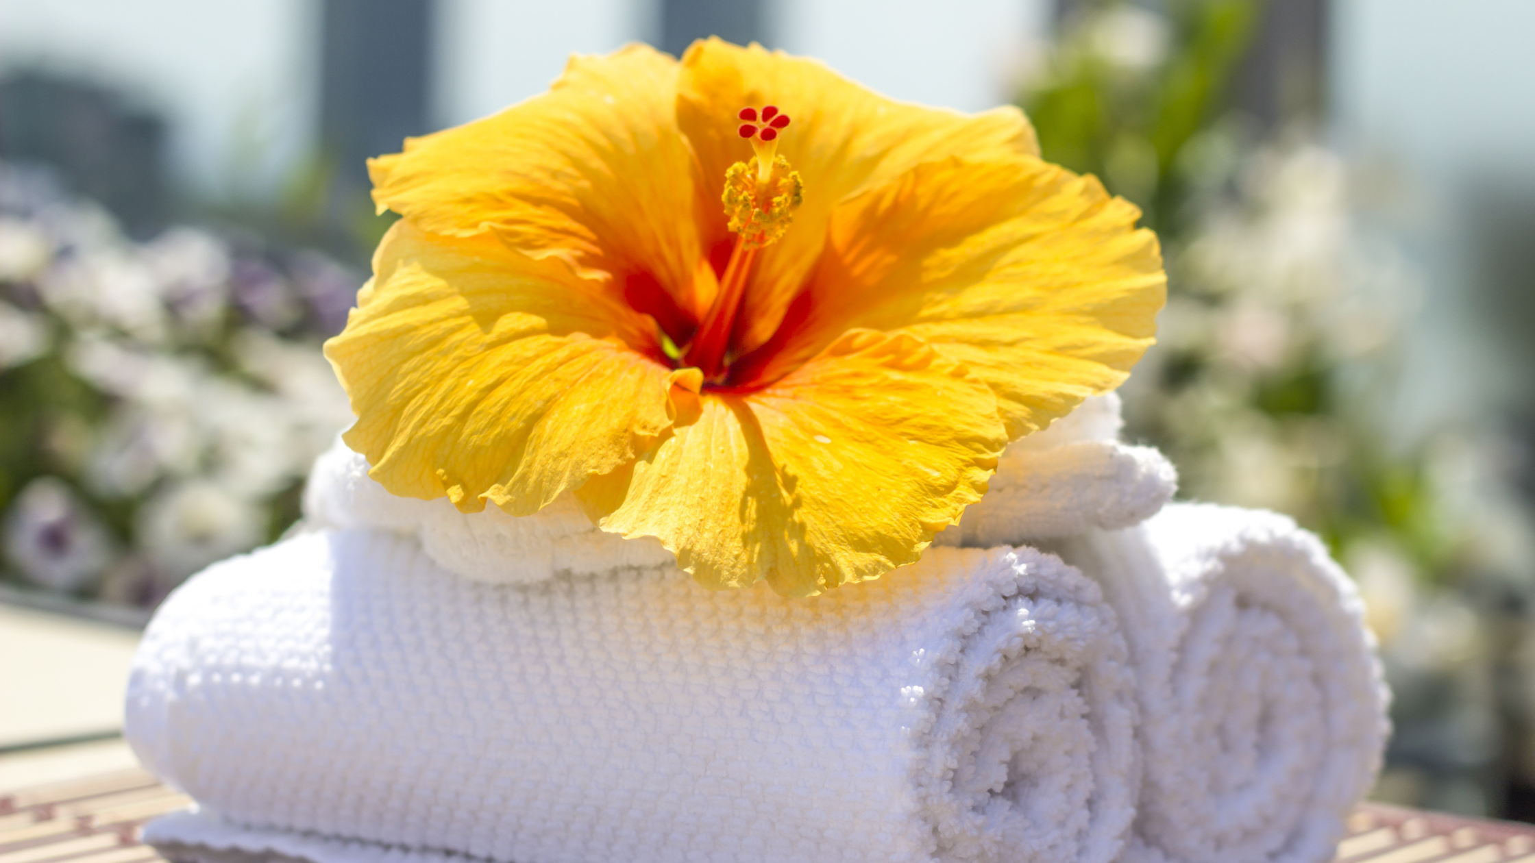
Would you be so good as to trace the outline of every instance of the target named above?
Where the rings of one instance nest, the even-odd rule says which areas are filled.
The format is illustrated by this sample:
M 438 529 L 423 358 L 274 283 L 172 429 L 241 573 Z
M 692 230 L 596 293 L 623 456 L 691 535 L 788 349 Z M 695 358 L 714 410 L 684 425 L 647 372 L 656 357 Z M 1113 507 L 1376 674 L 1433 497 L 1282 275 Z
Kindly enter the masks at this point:
M 146 831 L 178 858 L 1110 863 L 1134 713 L 1098 585 L 1027 548 L 783 599 L 353 530 L 172 594 L 127 739 L 198 802 Z

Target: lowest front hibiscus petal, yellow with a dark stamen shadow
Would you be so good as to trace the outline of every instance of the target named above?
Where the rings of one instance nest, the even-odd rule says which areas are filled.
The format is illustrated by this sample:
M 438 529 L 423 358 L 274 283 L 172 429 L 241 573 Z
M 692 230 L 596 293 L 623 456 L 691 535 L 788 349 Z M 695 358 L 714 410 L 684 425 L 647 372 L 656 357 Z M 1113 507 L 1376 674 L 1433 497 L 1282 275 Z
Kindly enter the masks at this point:
M 698 582 L 809 596 L 913 562 L 985 493 L 1007 442 L 990 389 L 912 336 L 846 333 L 774 387 L 700 398 L 629 468 L 577 491 Z

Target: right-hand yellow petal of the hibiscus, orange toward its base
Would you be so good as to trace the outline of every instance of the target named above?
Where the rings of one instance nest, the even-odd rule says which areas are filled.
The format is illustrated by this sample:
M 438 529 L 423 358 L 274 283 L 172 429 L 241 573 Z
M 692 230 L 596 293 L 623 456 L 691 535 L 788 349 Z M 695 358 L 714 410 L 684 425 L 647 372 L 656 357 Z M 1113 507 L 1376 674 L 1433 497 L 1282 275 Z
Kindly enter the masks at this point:
M 1028 157 L 921 164 L 832 213 L 797 309 L 740 370 L 771 381 L 850 327 L 910 333 L 992 385 L 1008 438 L 1027 435 L 1151 346 L 1167 276 L 1139 215 Z

